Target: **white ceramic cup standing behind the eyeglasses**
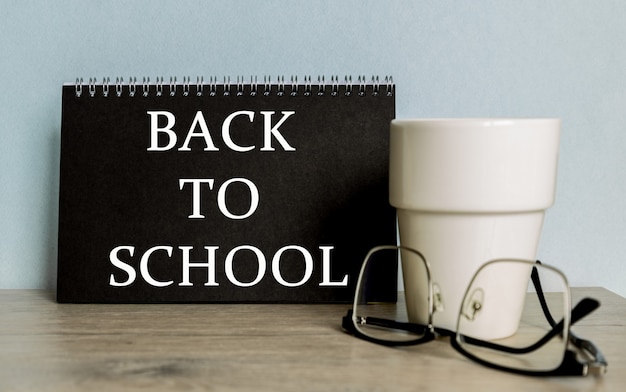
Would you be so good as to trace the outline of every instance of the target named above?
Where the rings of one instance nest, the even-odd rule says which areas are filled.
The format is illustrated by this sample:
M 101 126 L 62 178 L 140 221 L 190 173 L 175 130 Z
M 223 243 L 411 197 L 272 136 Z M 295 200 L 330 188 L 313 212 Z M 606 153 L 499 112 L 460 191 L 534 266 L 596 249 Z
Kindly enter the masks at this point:
M 430 264 L 441 298 L 435 326 L 456 329 L 463 295 L 482 264 L 535 259 L 544 212 L 555 198 L 559 130 L 559 119 L 391 122 L 389 199 L 400 244 Z M 403 269 L 409 309 L 427 294 L 412 284 L 420 273 Z M 519 303 L 498 315 L 490 337 L 515 331 L 527 284 L 528 276 L 519 276 Z

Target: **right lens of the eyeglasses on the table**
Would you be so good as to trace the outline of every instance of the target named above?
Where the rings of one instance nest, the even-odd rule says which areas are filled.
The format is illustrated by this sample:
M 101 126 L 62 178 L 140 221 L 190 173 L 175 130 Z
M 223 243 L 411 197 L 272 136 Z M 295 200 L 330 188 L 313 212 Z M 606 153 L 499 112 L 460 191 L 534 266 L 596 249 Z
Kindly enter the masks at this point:
M 520 260 L 490 262 L 466 292 L 456 339 L 463 351 L 484 362 L 551 371 L 567 348 L 569 309 L 567 281 L 558 270 Z

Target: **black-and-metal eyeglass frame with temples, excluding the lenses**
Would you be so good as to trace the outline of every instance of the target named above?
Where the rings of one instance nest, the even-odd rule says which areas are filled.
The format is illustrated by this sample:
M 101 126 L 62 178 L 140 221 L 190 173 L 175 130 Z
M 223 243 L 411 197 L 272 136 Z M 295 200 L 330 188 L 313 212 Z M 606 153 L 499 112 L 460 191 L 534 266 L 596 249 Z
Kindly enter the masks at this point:
M 415 323 L 410 323 L 410 322 L 408 323 L 399 322 L 399 321 L 387 320 L 387 319 L 378 319 L 378 318 L 372 318 L 372 317 L 363 318 L 363 317 L 357 317 L 354 315 L 354 309 L 357 308 L 358 306 L 357 302 L 359 300 L 359 298 L 357 297 L 357 293 L 359 293 L 361 290 L 361 284 L 363 282 L 363 274 L 367 265 L 367 261 L 370 259 L 370 256 L 373 253 L 377 251 L 381 251 L 381 250 L 404 250 L 404 251 L 413 253 L 414 255 L 418 256 L 422 260 L 423 265 L 425 267 L 426 279 L 428 281 L 428 287 L 427 287 L 428 289 L 428 323 L 427 325 L 420 325 L 420 324 L 415 324 Z M 433 297 L 434 290 L 433 290 L 433 281 L 432 281 L 431 272 L 430 272 L 430 265 L 422 253 L 420 253 L 419 251 L 415 249 L 412 249 L 406 246 L 401 246 L 401 245 L 376 246 L 370 249 L 370 251 L 367 253 L 363 261 L 363 264 L 361 266 L 359 278 L 357 280 L 356 291 L 355 291 L 355 296 L 354 296 L 355 298 L 354 298 L 354 302 L 352 305 L 352 309 L 348 310 L 348 313 L 346 314 L 346 316 L 343 317 L 342 327 L 344 330 L 354 335 L 355 337 L 358 337 L 360 339 L 363 339 L 372 343 L 385 345 L 385 346 L 413 346 L 413 345 L 427 343 L 429 341 L 434 340 L 438 336 L 447 336 L 447 337 L 450 337 L 450 343 L 452 347 L 457 352 L 464 355 L 465 357 L 475 362 L 478 362 L 481 365 L 484 365 L 486 367 L 497 369 L 497 370 L 502 370 L 506 372 L 516 373 L 516 374 L 522 374 L 522 375 L 528 375 L 528 376 L 587 376 L 589 374 L 601 375 L 601 374 L 606 373 L 608 363 L 606 359 L 604 358 L 604 355 L 602 354 L 602 352 L 598 349 L 598 347 L 589 340 L 579 338 L 571 331 L 571 326 L 574 325 L 574 323 L 576 323 L 578 320 L 582 319 L 583 317 L 587 316 L 589 313 L 597 309 L 600 306 L 600 302 L 598 302 L 596 299 L 593 299 L 593 298 L 588 298 L 588 297 L 583 298 L 576 304 L 576 306 L 571 308 L 569 311 L 569 314 L 565 314 L 564 318 L 558 323 L 553 319 L 547 307 L 543 288 L 539 280 L 539 274 L 537 273 L 537 268 L 534 266 L 541 265 L 543 268 L 547 268 L 553 272 L 556 272 L 563 278 L 564 283 L 565 283 L 565 290 L 566 290 L 564 295 L 567 298 L 568 308 L 569 308 L 569 304 L 571 303 L 571 299 L 570 299 L 571 293 L 570 293 L 569 283 L 567 281 L 567 278 L 565 277 L 565 274 L 563 274 L 563 272 L 561 272 L 559 269 L 552 267 L 550 265 L 543 264 L 539 260 L 537 261 L 522 260 L 522 259 L 491 260 L 483 264 L 476 271 L 476 273 L 470 280 L 470 283 L 468 285 L 468 288 L 466 290 L 464 297 L 467 297 L 468 291 L 472 287 L 472 283 L 474 282 L 476 276 L 478 276 L 479 272 L 483 268 L 485 268 L 489 264 L 493 264 L 493 263 L 501 262 L 505 260 L 526 263 L 526 264 L 533 266 L 532 273 L 531 273 L 531 280 L 535 287 L 535 292 L 537 293 L 537 297 L 539 299 L 539 303 L 541 305 L 543 314 L 546 317 L 546 320 L 548 321 L 550 326 L 552 327 L 552 329 L 546 335 L 544 335 L 543 338 L 541 338 L 535 344 L 522 350 L 527 350 L 528 352 L 534 351 L 535 349 L 541 347 L 547 341 L 552 339 L 554 336 L 563 335 L 563 333 L 565 333 L 566 336 L 564 336 L 563 338 L 565 339 L 566 342 L 576 347 L 581 353 L 585 353 L 586 356 L 590 356 L 592 359 L 589 359 L 587 361 L 579 361 L 577 353 L 573 351 L 572 349 L 570 349 L 568 347 L 569 345 L 565 347 L 565 350 L 563 352 L 563 359 L 561 360 L 560 365 L 557 368 L 552 369 L 552 370 L 528 370 L 528 369 L 510 368 L 510 367 L 498 365 L 496 363 L 483 360 L 473 355 L 472 353 L 468 352 L 462 347 L 461 343 L 459 342 L 459 340 L 462 337 L 464 339 L 467 339 L 468 341 L 471 341 L 472 344 L 480 345 L 483 347 L 489 347 L 489 348 L 497 349 L 500 351 L 505 351 L 505 352 L 508 351 L 511 353 L 515 353 L 515 351 L 519 351 L 520 349 L 512 349 L 512 348 L 500 346 L 500 345 L 497 345 L 495 343 L 491 343 L 488 341 L 461 335 L 458 332 L 458 328 L 457 328 L 457 331 L 454 332 L 454 331 L 450 331 L 447 329 L 435 327 L 432 322 L 433 314 L 435 313 L 436 308 L 435 308 L 434 297 Z M 459 318 L 461 317 L 461 314 L 462 314 L 462 309 L 459 310 L 459 315 L 458 315 Z M 567 328 L 567 331 L 564 331 L 565 321 L 568 319 L 568 317 L 569 317 L 568 328 Z M 410 332 L 423 333 L 423 335 L 417 339 L 406 340 L 406 341 L 378 339 L 378 338 L 369 336 L 367 334 L 364 334 L 363 332 L 359 330 L 359 328 L 357 328 L 356 326 L 357 323 L 364 324 L 367 321 L 369 321 L 370 325 L 378 325 L 378 326 L 391 327 L 394 329 L 405 330 L 405 331 L 410 331 Z

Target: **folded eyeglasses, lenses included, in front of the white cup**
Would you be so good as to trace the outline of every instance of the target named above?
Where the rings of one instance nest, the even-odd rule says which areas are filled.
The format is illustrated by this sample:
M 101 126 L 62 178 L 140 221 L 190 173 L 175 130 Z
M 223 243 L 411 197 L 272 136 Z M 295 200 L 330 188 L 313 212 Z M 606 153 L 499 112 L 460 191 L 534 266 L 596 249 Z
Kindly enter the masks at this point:
M 380 302 L 380 271 L 404 272 L 405 291 Z M 406 276 L 411 271 L 410 276 Z M 343 328 L 370 342 L 408 346 L 450 336 L 464 356 L 491 368 L 534 376 L 603 374 L 607 362 L 590 341 L 570 326 L 598 306 L 585 298 L 572 310 L 565 275 L 526 260 L 494 260 L 471 279 L 458 313 L 456 331 L 433 326 L 441 293 L 424 256 L 401 246 L 370 250 L 361 267 L 353 308 Z M 558 321 L 557 321 L 558 320 Z

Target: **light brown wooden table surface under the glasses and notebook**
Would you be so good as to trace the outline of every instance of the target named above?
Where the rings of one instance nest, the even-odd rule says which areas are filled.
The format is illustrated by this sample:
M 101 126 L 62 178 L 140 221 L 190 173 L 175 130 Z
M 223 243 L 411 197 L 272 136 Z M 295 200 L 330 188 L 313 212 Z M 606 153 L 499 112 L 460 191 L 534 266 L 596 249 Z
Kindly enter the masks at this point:
M 609 362 L 603 377 L 491 370 L 447 338 L 410 348 L 356 339 L 347 305 L 71 305 L 53 292 L 0 290 L 0 391 L 623 391 L 626 299 L 577 325 Z

